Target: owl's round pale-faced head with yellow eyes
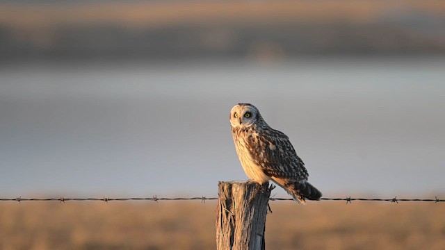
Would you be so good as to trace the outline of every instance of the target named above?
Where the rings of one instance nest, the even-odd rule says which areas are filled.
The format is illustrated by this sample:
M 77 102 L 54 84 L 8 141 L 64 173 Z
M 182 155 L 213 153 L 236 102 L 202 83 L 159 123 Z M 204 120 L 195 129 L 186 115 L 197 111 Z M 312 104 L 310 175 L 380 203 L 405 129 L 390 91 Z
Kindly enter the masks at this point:
M 238 103 L 230 110 L 232 128 L 248 128 L 258 121 L 262 121 L 259 110 L 250 103 Z

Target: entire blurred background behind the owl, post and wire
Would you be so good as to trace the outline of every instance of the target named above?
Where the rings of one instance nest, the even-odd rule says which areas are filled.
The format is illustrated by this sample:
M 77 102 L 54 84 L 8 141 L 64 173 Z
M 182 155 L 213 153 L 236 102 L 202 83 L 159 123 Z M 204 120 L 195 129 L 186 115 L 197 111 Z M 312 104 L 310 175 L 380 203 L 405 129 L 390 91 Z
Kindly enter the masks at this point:
M 249 102 L 324 197 L 441 198 L 444 27 L 442 0 L 0 1 L 0 196 L 216 197 Z M 215 203 L 172 204 L 0 204 L 0 249 L 214 248 Z M 275 204 L 274 249 L 445 244 L 440 204 Z

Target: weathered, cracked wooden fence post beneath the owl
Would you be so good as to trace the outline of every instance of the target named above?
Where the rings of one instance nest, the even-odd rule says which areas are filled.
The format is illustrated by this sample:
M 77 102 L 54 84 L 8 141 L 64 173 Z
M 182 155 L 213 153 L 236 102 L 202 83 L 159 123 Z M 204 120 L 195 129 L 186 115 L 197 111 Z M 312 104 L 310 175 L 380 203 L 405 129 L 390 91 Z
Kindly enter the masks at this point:
M 266 214 L 273 188 L 252 181 L 218 183 L 216 249 L 265 249 Z

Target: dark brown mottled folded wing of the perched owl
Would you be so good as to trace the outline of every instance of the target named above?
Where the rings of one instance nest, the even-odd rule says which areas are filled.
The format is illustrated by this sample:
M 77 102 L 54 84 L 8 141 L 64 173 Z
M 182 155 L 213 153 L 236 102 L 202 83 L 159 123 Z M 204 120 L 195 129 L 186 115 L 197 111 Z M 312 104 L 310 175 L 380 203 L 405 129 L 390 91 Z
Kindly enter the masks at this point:
M 305 163 L 284 133 L 271 128 L 252 133 L 247 146 L 252 159 L 266 175 L 292 181 L 307 180 Z

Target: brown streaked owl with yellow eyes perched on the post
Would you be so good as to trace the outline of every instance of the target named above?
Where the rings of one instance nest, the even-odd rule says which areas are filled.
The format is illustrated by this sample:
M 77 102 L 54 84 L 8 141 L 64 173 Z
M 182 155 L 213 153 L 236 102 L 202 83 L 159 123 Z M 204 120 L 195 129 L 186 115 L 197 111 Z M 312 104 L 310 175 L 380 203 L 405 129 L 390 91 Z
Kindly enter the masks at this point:
M 259 184 L 273 181 L 294 200 L 319 200 L 321 192 L 307 182 L 305 163 L 297 156 L 289 138 L 264 121 L 250 103 L 238 103 L 230 110 L 230 125 L 236 153 L 245 174 Z

